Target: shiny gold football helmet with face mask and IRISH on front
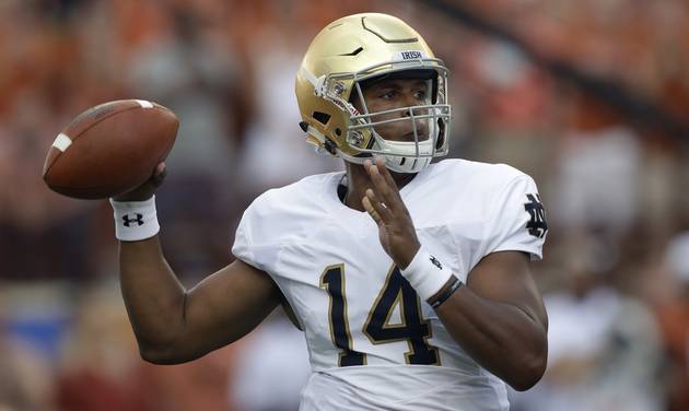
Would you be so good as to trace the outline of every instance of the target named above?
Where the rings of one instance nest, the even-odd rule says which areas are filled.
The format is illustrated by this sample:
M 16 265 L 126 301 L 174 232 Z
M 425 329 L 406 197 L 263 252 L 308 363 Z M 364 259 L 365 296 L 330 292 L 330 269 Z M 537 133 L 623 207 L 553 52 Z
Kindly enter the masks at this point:
M 370 113 L 362 90 L 381 78 L 422 79 L 429 97 L 421 105 Z M 419 33 L 397 17 L 362 13 L 330 23 L 308 47 L 295 92 L 300 127 L 319 151 L 358 164 L 379 155 L 398 173 L 418 173 L 447 154 L 447 69 Z M 397 121 L 408 121 L 408 141 L 379 132 Z

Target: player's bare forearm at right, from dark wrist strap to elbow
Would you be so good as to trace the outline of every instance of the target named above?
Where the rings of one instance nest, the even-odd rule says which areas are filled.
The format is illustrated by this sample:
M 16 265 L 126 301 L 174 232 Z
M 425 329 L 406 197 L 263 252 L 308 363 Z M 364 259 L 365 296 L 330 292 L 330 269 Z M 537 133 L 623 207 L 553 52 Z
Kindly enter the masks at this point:
M 546 327 L 533 313 L 458 289 L 436 308 L 453 339 L 482 367 L 526 390 L 542 376 Z

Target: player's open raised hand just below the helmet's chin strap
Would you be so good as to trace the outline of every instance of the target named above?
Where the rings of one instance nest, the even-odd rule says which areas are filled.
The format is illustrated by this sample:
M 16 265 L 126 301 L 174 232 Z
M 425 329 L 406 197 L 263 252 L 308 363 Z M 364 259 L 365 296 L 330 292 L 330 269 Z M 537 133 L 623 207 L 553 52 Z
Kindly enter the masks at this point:
M 363 166 L 373 188 L 366 190 L 361 203 L 378 225 L 383 249 L 404 270 L 421 247 L 413 222 L 383 158 L 375 158 L 375 163 L 366 160 Z

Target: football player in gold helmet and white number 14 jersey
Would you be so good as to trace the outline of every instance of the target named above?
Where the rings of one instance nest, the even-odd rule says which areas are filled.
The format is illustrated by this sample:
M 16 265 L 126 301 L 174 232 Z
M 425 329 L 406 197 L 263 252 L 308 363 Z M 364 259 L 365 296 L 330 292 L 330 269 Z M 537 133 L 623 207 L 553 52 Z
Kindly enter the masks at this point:
M 390 15 L 346 16 L 296 74 L 307 141 L 346 173 L 304 178 L 244 212 L 236 260 L 185 290 L 157 239 L 155 188 L 113 199 L 122 295 L 143 359 L 182 363 L 278 305 L 304 331 L 302 410 L 507 410 L 505 383 L 546 368 L 530 272 L 545 212 L 532 178 L 447 153 L 447 70 Z M 142 224 L 126 224 L 132 216 Z M 267 394 L 268 395 L 268 394 Z

